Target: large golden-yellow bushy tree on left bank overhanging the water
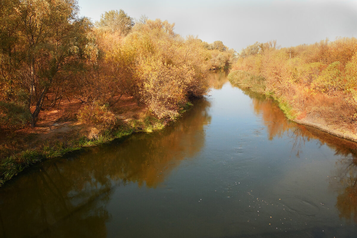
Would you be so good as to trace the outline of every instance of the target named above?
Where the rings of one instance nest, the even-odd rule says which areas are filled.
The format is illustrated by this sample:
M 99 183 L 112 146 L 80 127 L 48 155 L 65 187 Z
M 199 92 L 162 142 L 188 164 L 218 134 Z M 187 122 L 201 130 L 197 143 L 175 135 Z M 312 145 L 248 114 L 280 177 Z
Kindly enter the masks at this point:
M 210 55 L 202 41 L 182 39 L 173 29 L 167 21 L 147 20 L 125 39 L 134 50 L 136 97 L 160 118 L 175 118 L 189 96 L 208 90 Z

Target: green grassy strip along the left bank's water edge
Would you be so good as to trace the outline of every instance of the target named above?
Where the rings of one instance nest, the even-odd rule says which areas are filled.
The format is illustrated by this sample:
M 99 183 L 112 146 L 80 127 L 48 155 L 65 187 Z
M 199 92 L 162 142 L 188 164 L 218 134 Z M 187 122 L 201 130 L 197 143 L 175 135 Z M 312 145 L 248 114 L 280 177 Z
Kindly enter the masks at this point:
M 182 113 L 187 111 L 191 106 L 192 103 L 187 102 L 179 111 L 180 114 L 178 116 L 181 116 Z M 117 118 L 119 118 L 118 116 L 119 115 L 116 115 Z M 109 143 L 115 139 L 131 135 L 135 132 L 150 133 L 155 130 L 161 130 L 170 122 L 177 119 L 177 117 L 172 118 L 171 120 L 158 119 L 154 115 L 150 115 L 147 111 L 141 113 L 140 116 L 136 115 L 135 117 L 136 119 L 130 118 L 129 120 L 118 119 L 114 128 L 103 131 L 98 130 L 100 125 L 92 125 L 88 127 L 88 125 L 82 124 L 69 131 L 69 133 L 74 133 L 75 136 L 62 139 L 56 138 L 61 134 L 61 126 L 57 127 L 54 132 L 52 132 L 52 136 L 47 137 L 47 140 L 43 140 L 43 135 L 37 135 L 36 138 L 32 137 L 32 140 L 37 140 L 36 148 L 29 148 L 24 151 L 20 151 L 17 148 L 17 152 L 14 152 L 13 155 L 0 161 L 0 186 L 25 168 L 44 159 L 63 156 L 68 152 L 80 150 L 84 147 Z M 97 133 L 93 135 L 93 131 L 97 131 Z M 24 135 L 21 134 L 19 136 Z M 16 148 L 13 149 L 16 151 Z

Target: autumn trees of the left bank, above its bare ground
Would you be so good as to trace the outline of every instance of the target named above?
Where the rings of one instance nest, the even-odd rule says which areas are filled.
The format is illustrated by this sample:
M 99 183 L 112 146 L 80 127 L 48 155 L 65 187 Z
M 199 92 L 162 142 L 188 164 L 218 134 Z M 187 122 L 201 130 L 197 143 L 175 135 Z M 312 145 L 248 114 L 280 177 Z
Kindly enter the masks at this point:
M 123 10 L 93 24 L 73 0 L 9 0 L 0 9 L 2 128 L 35 126 L 62 100 L 111 106 L 125 94 L 170 118 L 207 91 L 210 67 L 230 57 L 221 41 L 184 39 L 175 24 L 134 21 Z

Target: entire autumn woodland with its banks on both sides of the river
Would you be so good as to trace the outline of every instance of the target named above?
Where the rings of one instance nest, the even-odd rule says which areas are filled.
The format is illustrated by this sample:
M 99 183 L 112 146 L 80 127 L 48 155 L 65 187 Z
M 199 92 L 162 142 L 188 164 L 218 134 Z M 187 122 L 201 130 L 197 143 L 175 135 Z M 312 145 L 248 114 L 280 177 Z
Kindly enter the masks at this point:
M 42 158 L 163 128 L 208 92 L 218 68 L 274 97 L 290 120 L 357 140 L 355 38 L 256 42 L 236 57 L 174 26 L 121 9 L 91 22 L 75 0 L 1 1 L 0 184 Z M 64 124 L 61 139 L 47 136 Z

